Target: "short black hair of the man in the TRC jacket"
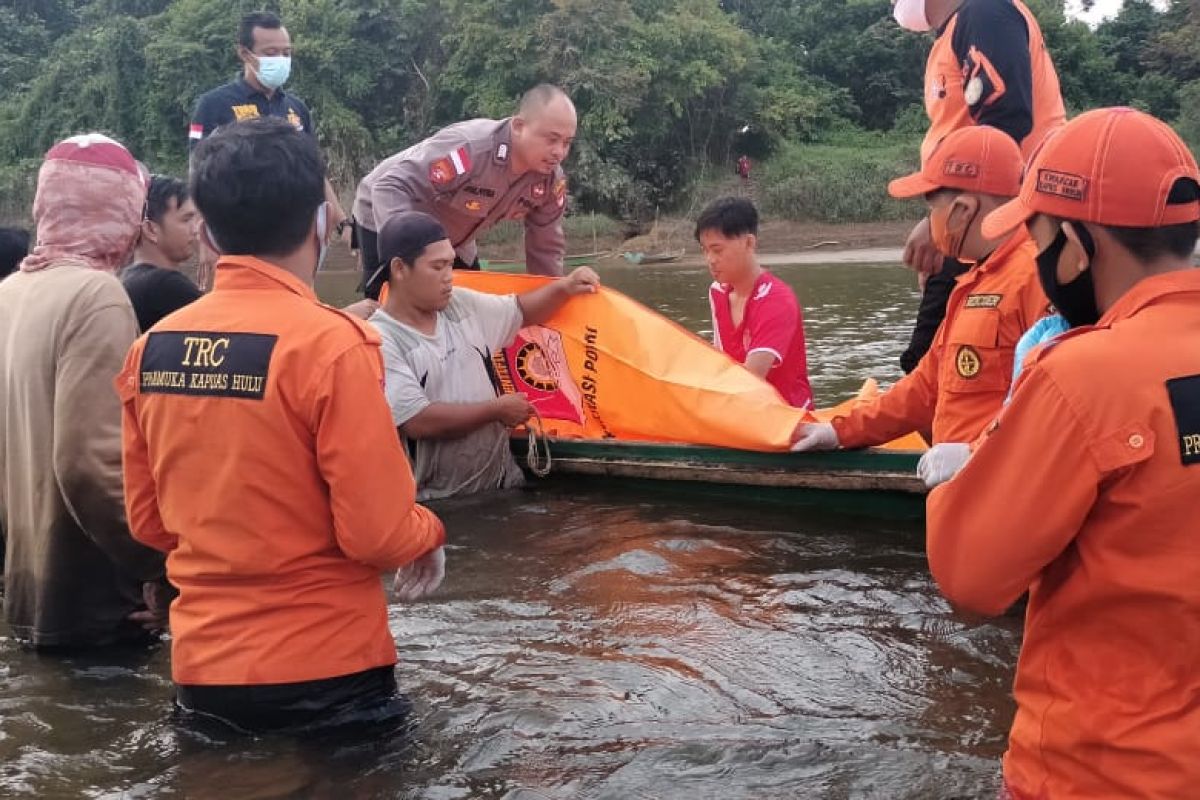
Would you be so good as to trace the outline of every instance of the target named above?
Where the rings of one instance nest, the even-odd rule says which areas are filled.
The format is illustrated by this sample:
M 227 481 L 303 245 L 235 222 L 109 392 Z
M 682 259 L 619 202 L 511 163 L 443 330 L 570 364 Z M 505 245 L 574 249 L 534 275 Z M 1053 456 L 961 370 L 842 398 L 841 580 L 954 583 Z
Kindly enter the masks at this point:
M 222 253 L 287 255 L 325 201 L 325 162 L 317 140 L 287 120 L 234 122 L 197 145 L 191 192 Z

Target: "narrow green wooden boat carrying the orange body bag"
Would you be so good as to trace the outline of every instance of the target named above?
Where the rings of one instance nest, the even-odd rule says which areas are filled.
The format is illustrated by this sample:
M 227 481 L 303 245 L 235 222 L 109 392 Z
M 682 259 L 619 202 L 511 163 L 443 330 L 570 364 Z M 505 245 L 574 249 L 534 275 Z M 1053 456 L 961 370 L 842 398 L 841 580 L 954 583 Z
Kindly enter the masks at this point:
M 634 483 L 638 488 L 703 493 L 737 503 L 821 506 L 866 516 L 920 518 L 925 486 L 917 477 L 920 453 L 854 450 L 829 453 L 762 453 L 698 445 L 643 441 L 548 440 L 546 479 L 586 491 Z M 524 465 L 528 440 L 514 437 Z

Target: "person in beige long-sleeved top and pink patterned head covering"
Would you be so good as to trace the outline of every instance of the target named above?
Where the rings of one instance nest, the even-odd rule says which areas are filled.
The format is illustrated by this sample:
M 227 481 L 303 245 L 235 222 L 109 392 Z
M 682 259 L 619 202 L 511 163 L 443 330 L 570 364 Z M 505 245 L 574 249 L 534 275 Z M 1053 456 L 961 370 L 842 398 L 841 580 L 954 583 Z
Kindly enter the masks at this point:
M 37 175 L 37 245 L 0 281 L 5 618 L 35 648 L 142 643 L 166 622 L 163 558 L 125 522 L 113 390 L 138 335 L 115 272 L 145 194 L 121 144 L 56 144 Z

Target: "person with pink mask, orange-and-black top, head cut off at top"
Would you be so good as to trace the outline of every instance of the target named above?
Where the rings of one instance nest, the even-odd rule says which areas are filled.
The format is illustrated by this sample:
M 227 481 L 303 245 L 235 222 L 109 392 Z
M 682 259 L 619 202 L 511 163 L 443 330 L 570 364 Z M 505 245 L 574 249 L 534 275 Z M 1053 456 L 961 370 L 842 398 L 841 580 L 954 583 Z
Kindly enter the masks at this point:
M 902 28 L 934 31 L 925 66 L 929 131 L 924 164 L 950 132 L 990 125 L 1010 136 L 1025 160 L 1067 120 L 1058 76 L 1033 13 L 1021 0 L 892 0 Z M 900 366 L 912 372 L 929 350 L 954 279 L 970 269 L 942 255 L 922 219 L 905 243 L 904 261 L 920 275 L 923 294 Z

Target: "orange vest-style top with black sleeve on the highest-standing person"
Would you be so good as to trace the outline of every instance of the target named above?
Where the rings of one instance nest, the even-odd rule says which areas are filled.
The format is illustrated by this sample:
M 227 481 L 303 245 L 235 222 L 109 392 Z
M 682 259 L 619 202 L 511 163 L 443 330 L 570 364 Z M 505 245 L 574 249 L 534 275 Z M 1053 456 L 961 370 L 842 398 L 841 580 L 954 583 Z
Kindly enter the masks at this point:
M 1050 53 L 1020 0 L 966 0 L 941 30 L 925 65 L 930 126 L 920 160 L 949 133 L 990 125 L 1030 158 L 1067 121 Z

